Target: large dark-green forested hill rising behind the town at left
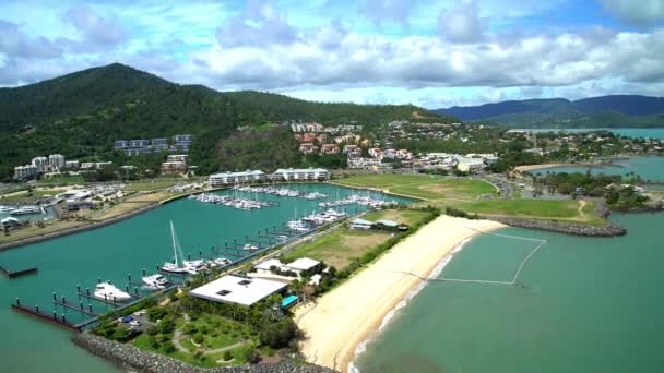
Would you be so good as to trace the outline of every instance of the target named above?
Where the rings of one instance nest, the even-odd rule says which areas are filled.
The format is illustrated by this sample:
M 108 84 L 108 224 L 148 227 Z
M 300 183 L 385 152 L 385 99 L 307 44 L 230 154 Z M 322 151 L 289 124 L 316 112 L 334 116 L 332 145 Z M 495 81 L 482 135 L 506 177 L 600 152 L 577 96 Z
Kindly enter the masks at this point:
M 415 111 L 429 120 L 455 120 L 407 105 L 320 104 L 259 92 L 220 93 L 201 85 L 174 84 L 114 63 L 0 89 L 0 180 L 7 180 L 13 167 L 35 156 L 60 153 L 67 158 L 119 159 L 120 155 L 112 152 L 115 140 L 177 133 L 194 135 L 191 161 L 202 166 L 204 172 L 230 166 L 223 158 L 232 154 L 228 149 L 233 147 L 246 159 L 280 155 L 286 160 L 276 166 L 298 166 L 292 164 L 296 144 L 288 144 L 293 147 L 288 151 L 295 153 L 287 156 L 283 151 L 251 147 L 251 152 L 262 153 L 256 155 L 249 152 L 251 133 L 232 135 L 241 125 L 283 120 L 329 124 L 356 121 L 370 131 L 378 123 L 411 119 Z M 269 143 L 270 134 L 285 139 L 281 132 L 283 129 L 263 132 L 257 139 L 264 143 Z M 234 139 L 247 148 L 237 149 Z

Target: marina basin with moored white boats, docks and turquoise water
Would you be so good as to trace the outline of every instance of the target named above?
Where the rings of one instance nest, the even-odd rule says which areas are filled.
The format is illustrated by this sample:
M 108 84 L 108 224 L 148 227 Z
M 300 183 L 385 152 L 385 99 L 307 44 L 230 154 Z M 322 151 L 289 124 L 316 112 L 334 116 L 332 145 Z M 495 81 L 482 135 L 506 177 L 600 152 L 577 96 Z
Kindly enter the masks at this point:
M 293 188 L 305 193 L 318 191 L 327 195 L 339 195 L 340 198 L 355 193 L 354 190 L 327 184 L 298 184 Z M 239 196 L 245 192 L 221 191 L 214 194 L 232 195 L 233 193 Z M 265 195 L 266 201 L 278 202 L 271 198 L 281 197 Z M 405 198 L 399 201 L 410 202 Z M 9 278 L 0 279 L 3 288 L 0 297 L 5 304 L 0 308 L 0 317 L 3 324 L 9 325 L 7 333 L 11 334 L 11 338 L 5 339 L 1 346 L 8 353 L 20 356 L 22 353 L 20 351 L 31 350 L 48 356 L 55 353 L 54 344 L 69 345 L 69 337 L 58 333 L 54 327 L 44 325 L 43 322 L 63 326 L 64 330 L 78 330 L 96 323 L 97 316 L 88 314 L 90 312 L 104 314 L 122 310 L 146 296 L 175 289 L 190 275 L 161 270 L 164 262 L 171 261 L 174 254 L 170 220 L 181 244 L 181 258 L 202 261 L 209 265 L 214 263 L 227 268 L 227 266 L 241 265 L 272 248 L 315 232 L 317 226 L 313 222 L 303 221 L 307 227 L 313 228 L 309 231 L 292 230 L 287 227 L 287 222 L 305 220 L 307 217 L 323 213 L 325 209 L 320 208 L 317 203 L 315 200 L 284 198 L 271 208 L 249 213 L 182 198 L 102 229 L 2 252 L 0 261 L 3 266 L 8 268 L 38 266 L 39 272 L 38 276 L 25 276 L 12 279 L 11 282 Z M 346 206 L 345 214 L 348 216 L 358 214 L 366 208 L 360 205 Z M 303 213 L 296 215 L 295 210 Z M 143 282 L 143 277 L 156 274 L 169 280 L 169 285 L 158 290 L 149 289 Z M 104 281 L 115 284 L 119 290 L 130 293 L 131 299 L 114 303 L 112 300 L 105 302 L 94 298 L 93 289 L 102 278 Z M 76 284 L 80 284 L 80 291 L 76 289 Z M 58 294 L 57 303 L 54 303 L 54 291 Z M 138 297 L 135 297 L 137 291 Z M 62 297 L 67 299 L 67 306 L 62 305 Z M 21 305 L 16 305 L 15 298 L 21 299 Z M 83 302 L 82 306 L 81 302 Z M 66 323 L 62 323 L 62 315 Z M 38 341 L 35 341 L 35 338 Z M 13 349 L 16 351 L 12 352 Z M 93 371 L 115 370 L 75 347 L 68 349 L 67 354 L 68 359 L 91 366 Z M 57 360 L 55 356 L 52 359 Z M 2 370 L 16 371 L 24 370 L 22 368 L 25 366 L 24 364 L 25 362 L 12 361 L 11 366 L 7 363 L 0 363 L 0 366 Z M 66 372 L 69 368 L 68 364 L 56 363 L 55 366 L 44 365 L 40 369 Z

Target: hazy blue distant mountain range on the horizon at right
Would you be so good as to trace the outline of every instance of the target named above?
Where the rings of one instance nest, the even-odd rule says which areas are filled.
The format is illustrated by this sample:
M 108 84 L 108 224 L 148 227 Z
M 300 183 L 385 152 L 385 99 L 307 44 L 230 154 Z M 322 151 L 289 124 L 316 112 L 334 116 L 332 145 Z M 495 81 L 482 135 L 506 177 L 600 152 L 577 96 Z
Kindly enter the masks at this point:
M 637 95 L 512 100 L 434 111 L 518 128 L 664 127 L 664 98 Z

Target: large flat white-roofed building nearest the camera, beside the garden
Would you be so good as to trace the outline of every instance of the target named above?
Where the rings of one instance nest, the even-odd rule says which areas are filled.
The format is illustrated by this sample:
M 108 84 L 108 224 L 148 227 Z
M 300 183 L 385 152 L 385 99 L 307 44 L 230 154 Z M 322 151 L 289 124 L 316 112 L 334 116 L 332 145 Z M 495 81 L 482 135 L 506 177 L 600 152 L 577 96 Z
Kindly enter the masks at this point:
M 228 275 L 195 288 L 189 294 L 213 302 L 249 306 L 274 293 L 284 291 L 287 286 L 288 284 L 262 278 L 245 278 Z

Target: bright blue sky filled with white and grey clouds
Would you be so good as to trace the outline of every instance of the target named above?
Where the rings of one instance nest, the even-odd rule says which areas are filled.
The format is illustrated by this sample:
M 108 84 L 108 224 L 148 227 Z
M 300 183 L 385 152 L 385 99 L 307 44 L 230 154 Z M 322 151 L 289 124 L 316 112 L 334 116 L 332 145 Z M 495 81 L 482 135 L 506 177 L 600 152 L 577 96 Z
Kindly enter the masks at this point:
M 429 109 L 664 96 L 664 0 L 0 0 L 0 86 L 114 62 Z

